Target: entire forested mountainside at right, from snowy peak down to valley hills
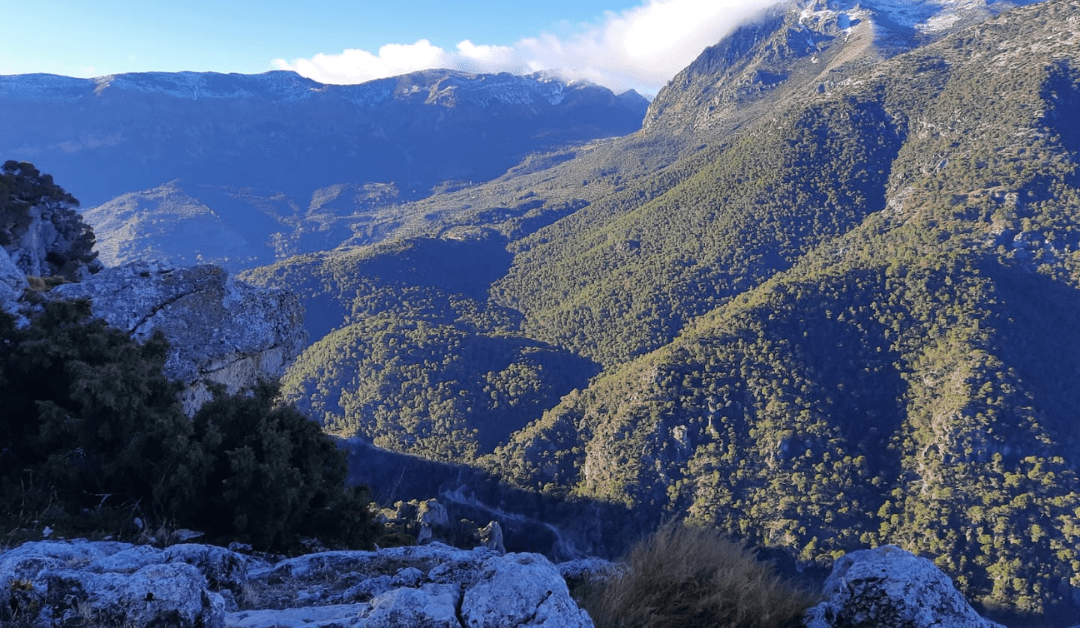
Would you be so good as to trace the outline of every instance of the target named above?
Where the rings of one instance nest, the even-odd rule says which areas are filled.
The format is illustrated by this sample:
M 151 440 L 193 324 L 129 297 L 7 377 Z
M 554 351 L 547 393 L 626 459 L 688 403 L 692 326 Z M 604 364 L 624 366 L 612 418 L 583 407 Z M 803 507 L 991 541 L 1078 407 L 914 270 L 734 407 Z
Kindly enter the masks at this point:
M 798 569 L 896 544 L 984 609 L 1075 618 L 1078 15 L 782 3 L 629 135 L 395 182 L 243 273 L 307 304 L 284 393 L 544 499 Z

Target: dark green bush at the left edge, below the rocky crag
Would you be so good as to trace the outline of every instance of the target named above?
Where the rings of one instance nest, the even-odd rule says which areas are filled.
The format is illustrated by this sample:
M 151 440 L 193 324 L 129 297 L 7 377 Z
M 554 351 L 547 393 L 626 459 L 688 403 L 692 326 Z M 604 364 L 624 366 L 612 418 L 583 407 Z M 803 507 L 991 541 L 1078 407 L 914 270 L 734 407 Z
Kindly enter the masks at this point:
M 141 503 L 174 517 L 205 460 L 162 375 L 165 342 L 89 319 L 87 302 L 45 304 L 22 330 L 0 316 L 0 490 L 69 513 Z

